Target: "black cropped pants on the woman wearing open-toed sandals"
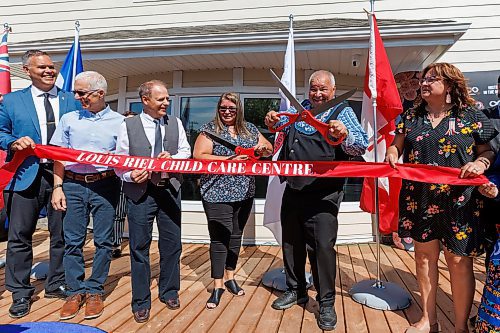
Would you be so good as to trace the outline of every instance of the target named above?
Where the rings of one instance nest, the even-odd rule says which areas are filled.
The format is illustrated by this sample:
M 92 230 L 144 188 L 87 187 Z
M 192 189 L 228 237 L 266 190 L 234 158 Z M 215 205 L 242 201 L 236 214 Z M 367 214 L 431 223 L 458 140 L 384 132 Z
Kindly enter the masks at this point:
M 207 202 L 203 208 L 210 234 L 212 278 L 222 279 L 224 269 L 234 271 L 238 263 L 241 237 L 253 206 L 253 198 L 236 202 Z

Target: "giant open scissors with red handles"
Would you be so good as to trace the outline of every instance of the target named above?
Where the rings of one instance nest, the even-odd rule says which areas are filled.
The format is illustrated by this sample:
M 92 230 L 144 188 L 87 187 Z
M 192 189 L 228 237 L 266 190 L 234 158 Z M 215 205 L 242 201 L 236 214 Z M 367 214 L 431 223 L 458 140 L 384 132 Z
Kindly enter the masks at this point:
M 269 127 L 269 131 L 276 133 L 276 132 L 281 131 L 283 128 L 285 128 L 285 127 L 287 127 L 287 126 L 289 126 L 297 121 L 304 121 L 307 124 L 313 126 L 325 138 L 325 140 L 329 144 L 336 146 L 336 145 L 341 144 L 342 141 L 344 141 L 344 138 L 339 139 L 339 140 L 332 140 L 331 135 L 329 134 L 330 127 L 328 126 L 328 124 L 325 124 L 325 123 L 317 120 L 316 118 L 314 118 L 313 114 L 310 111 L 306 110 L 302 106 L 302 104 L 300 104 L 300 102 L 295 98 L 295 96 L 293 96 L 292 93 L 290 93 L 290 91 L 285 87 L 285 85 L 281 82 L 280 78 L 273 72 L 273 70 L 271 69 L 270 71 L 271 71 L 271 75 L 272 75 L 273 79 L 276 81 L 279 88 L 281 89 L 281 92 L 286 96 L 286 98 L 288 98 L 288 100 L 290 101 L 290 104 L 295 108 L 295 110 L 297 110 L 297 113 L 290 113 L 290 112 L 278 113 L 277 114 L 278 117 L 279 116 L 287 116 L 288 122 L 286 122 L 285 124 L 278 126 L 276 128 Z M 346 99 L 348 99 L 349 97 L 354 95 L 356 90 L 357 89 L 349 90 L 345 94 L 342 94 L 338 97 L 335 97 L 334 99 L 329 100 L 326 103 L 321 104 L 320 106 L 318 106 L 315 109 L 315 111 L 319 114 L 321 112 L 324 112 L 326 110 L 331 109 L 335 105 L 342 103 L 343 101 L 345 101 Z

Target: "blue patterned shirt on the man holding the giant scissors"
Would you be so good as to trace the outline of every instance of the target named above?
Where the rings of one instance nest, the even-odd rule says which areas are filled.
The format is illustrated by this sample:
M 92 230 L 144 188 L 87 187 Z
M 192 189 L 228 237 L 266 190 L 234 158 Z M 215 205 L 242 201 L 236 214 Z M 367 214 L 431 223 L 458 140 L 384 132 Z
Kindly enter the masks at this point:
M 304 100 L 301 104 L 306 110 L 311 109 L 311 102 L 308 99 Z M 328 119 L 330 119 L 330 116 L 341 105 L 344 104 L 336 105 L 330 110 L 317 114 L 315 118 L 323 123 L 326 123 Z M 286 112 L 297 113 L 297 110 L 292 106 Z M 340 114 L 337 117 L 337 120 L 341 121 L 349 131 L 349 135 L 341 144 L 341 147 L 344 150 L 344 152 L 351 156 L 363 155 L 365 153 L 366 148 L 368 147 L 368 135 L 366 134 L 363 127 L 361 127 L 361 124 L 359 123 L 358 118 L 354 113 L 354 110 L 349 106 L 346 107 L 344 110 L 340 112 Z M 275 127 L 279 127 L 286 122 L 288 122 L 288 117 L 281 116 L 280 121 L 275 125 Z M 300 133 L 306 135 L 311 135 L 316 133 L 316 128 L 307 124 L 305 121 L 298 121 L 294 125 L 295 129 Z M 285 128 L 284 131 L 287 132 L 288 128 Z

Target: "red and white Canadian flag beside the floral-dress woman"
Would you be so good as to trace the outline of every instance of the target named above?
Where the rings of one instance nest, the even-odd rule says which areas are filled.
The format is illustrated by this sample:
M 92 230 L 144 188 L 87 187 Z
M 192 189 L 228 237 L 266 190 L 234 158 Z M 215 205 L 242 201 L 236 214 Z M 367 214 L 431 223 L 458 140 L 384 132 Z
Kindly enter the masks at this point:
M 369 19 L 370 51 L 366 64 L 363 109 L 361 111 L 361 125 L 368 134 L 369 145 L 363 158 L 369 162 L 382 162 L 385 159 L 385 152 L 394 138 L 394 120 L 403 111 L 403 106 L 375 15 L 369 14 Z M 373 112 L 374 99 L 376 101 L 376 124 Z M 377 145 L 377 156 L 375 156 L 375 145 Z M 397 230 L 400 189 L 400 179 L 379 178 L 378 180 L 379 229 L 381 233 Z M 360 208 L 374 214 L 376 212 L 374 196 L 375 181 L 373 178 L 365 178 Z

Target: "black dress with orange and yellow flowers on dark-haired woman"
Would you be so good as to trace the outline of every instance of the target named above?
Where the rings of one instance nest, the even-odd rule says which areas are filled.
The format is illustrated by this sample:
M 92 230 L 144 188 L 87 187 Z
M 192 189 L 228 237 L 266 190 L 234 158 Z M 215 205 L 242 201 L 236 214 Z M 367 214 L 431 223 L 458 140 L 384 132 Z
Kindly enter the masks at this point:
M 474 147 L 495 137 L 482 112 L 472 108 L 449 110 L 432 127 L 424 108 L 406 111 L 396 133 L 404 134 L 403 161 L 460 168 L 474 160 Z M 480 224 L 483 201 L 473 186 L 452 186 L 403 180 L 400 193 L 400 237 L 416 241 L 441 240 L 458 255 L 484 251 Z

